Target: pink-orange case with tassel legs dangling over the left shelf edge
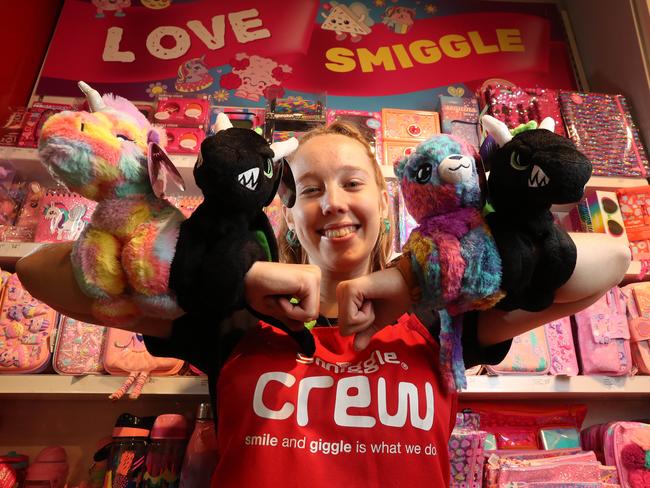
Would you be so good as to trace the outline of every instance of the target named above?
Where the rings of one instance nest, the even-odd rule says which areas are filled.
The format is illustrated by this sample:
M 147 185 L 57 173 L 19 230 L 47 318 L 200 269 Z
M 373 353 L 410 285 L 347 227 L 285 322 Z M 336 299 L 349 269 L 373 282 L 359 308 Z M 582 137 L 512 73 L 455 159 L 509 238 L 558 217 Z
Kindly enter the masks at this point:
M 124 384 L 109 396 L 118 400 L 132 385 L 129 398 L 140 396 L 149 376 L 170 376 L 178 373 L 183 361 L 152 356 L 144 345 L 142 334 L 109 327 L 104 349 L 104 368 L 113 375 L 128 375 Z

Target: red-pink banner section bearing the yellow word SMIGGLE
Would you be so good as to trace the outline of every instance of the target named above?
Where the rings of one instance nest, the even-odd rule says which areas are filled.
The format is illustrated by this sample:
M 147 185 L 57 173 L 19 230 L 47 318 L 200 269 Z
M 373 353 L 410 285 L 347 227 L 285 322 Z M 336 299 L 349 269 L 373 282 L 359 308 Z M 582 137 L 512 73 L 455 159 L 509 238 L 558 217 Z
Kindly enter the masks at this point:
M 361 42 L 354 37 L 337 41 L 337 35 L 322 26 L 314 31 L 306 61 L 294 67 L 287 88 L 331 95 L 391 95 L 548 70 L 549 24 L 530 15 L 418 19 L 407 35 L 379 24 Z

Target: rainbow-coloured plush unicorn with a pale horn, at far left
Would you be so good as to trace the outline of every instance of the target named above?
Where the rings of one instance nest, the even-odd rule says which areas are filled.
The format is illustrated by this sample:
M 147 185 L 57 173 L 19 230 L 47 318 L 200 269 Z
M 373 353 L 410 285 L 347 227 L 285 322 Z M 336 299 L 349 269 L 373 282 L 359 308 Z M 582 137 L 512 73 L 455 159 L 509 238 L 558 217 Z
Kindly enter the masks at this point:
M 148 144 L 160 134 L 128 100 L 82 90 L 94 111 L 52 116 L 39 141 L 49 170 L 98 202 L 72 251 L 77 282 L 107 325 L 144 313 L 176 318 L 182 310 L 168 288 L 169 268 L 184 217 L 152 189 Z

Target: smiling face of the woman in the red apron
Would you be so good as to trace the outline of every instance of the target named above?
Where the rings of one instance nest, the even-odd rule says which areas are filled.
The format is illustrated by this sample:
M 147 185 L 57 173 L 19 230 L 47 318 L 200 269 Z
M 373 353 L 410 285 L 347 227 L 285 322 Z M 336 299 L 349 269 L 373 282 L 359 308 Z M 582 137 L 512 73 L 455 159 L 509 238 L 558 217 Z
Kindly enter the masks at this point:
M 365 274 L 388 214 L 363 145 L 341 134 L 318 135 L 301 144 L 292 161 L 297 199 L 286 210 L 309 262 L 323 271 Z

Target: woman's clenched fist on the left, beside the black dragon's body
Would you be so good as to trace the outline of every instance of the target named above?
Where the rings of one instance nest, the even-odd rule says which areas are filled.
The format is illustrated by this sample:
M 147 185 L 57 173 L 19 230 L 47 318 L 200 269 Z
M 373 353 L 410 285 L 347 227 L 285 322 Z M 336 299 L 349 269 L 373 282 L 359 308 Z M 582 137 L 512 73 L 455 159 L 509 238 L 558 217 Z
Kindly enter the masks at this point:
M 318 317 L 320 277 L 320 268 L 311 264 L 257 261 L 244 276 L 246 302 L 292 330 L 302 330 L 304 322 Z

